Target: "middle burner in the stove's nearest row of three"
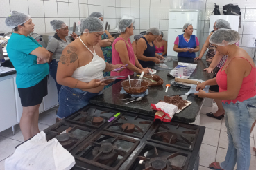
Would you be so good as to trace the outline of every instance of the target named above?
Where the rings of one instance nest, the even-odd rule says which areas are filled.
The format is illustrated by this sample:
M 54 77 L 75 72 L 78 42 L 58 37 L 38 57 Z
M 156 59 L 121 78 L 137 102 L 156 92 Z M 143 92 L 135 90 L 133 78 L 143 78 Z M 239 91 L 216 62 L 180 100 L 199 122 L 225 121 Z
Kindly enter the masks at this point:
M 94 160 L 101 164 L 111 166 L 118 157 L 118 153 L 114 149 L 117 149 L 117 146 L 111 143 L 102 143 L 101 147 L 94 147 L 92 150 Z

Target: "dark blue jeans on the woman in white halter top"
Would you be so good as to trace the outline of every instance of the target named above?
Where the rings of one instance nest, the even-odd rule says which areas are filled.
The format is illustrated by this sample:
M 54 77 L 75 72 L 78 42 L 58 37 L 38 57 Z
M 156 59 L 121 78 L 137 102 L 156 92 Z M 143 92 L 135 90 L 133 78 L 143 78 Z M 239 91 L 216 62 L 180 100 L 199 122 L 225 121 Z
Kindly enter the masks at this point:
M 78 88 L 62 86 L 59 94 L 60 106 L 58 108 L 57 117 L 63 119 L 71 115 L 80 108 L 87 106 L 92 97 L 101 95 L 102 93 L 103 91 L 100 91 L 99 93 L 90 93 L 87 91 L 82 91 Z

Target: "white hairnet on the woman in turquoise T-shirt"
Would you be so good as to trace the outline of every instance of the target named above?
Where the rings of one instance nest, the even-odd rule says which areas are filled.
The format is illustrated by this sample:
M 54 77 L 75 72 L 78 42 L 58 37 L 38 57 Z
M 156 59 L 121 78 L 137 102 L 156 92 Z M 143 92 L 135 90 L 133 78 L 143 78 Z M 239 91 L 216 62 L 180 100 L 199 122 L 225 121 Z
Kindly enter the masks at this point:
M 6 18 L 6 26 L 10 28 L 15 28 L 19 25 L 22 25 L 23 23 L 26 23 L 31 19 L 30 15 L 27 15 L 25 13 L 17 12 L 17 11 L 12 11 L 10 15 Z

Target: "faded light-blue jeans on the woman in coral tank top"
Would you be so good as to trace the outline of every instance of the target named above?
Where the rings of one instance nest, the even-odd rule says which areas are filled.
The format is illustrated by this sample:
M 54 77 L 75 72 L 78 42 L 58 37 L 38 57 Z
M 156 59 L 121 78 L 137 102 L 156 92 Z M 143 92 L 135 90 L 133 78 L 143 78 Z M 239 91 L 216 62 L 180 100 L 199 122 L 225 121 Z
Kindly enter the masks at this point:
M 221 168 L 248 170 L 250 167 L 250 128 L 256 120 L 256 97 L 244 102 L 222 103 L 228 133 L 228 151 Z

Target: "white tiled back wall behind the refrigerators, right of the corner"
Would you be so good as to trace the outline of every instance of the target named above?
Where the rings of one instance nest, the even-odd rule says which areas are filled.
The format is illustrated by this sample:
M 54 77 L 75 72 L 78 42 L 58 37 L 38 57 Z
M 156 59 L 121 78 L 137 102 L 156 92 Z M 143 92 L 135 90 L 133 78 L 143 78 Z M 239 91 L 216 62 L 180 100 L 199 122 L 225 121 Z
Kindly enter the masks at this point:
M 241 40 L 239 46 L 244 48 L 252 57 L 254 39 L 256 38 L 256 1 L 255 0 L 201 0 L 202 15 L 199 21 L 200 48 L 202 48 L 209 35 L 210 15 L 214 10 L 214 3 L 222 7 L 228 3 L 237 3 L 241 8 L 241 25 L 239 33 Z M 164 39 L 168 37 L 169 8 L 171 0 L 122 0 L 121 14 L 129 14 L 135 17 L 135 34 L 151 27 L 158 27 L 164 32 Z M 223 14 L 223 13 L 222 13 Z M 133 37 L 131 37 L 133 41 Z M 173 43 L 173 42 L 170 42 Z

